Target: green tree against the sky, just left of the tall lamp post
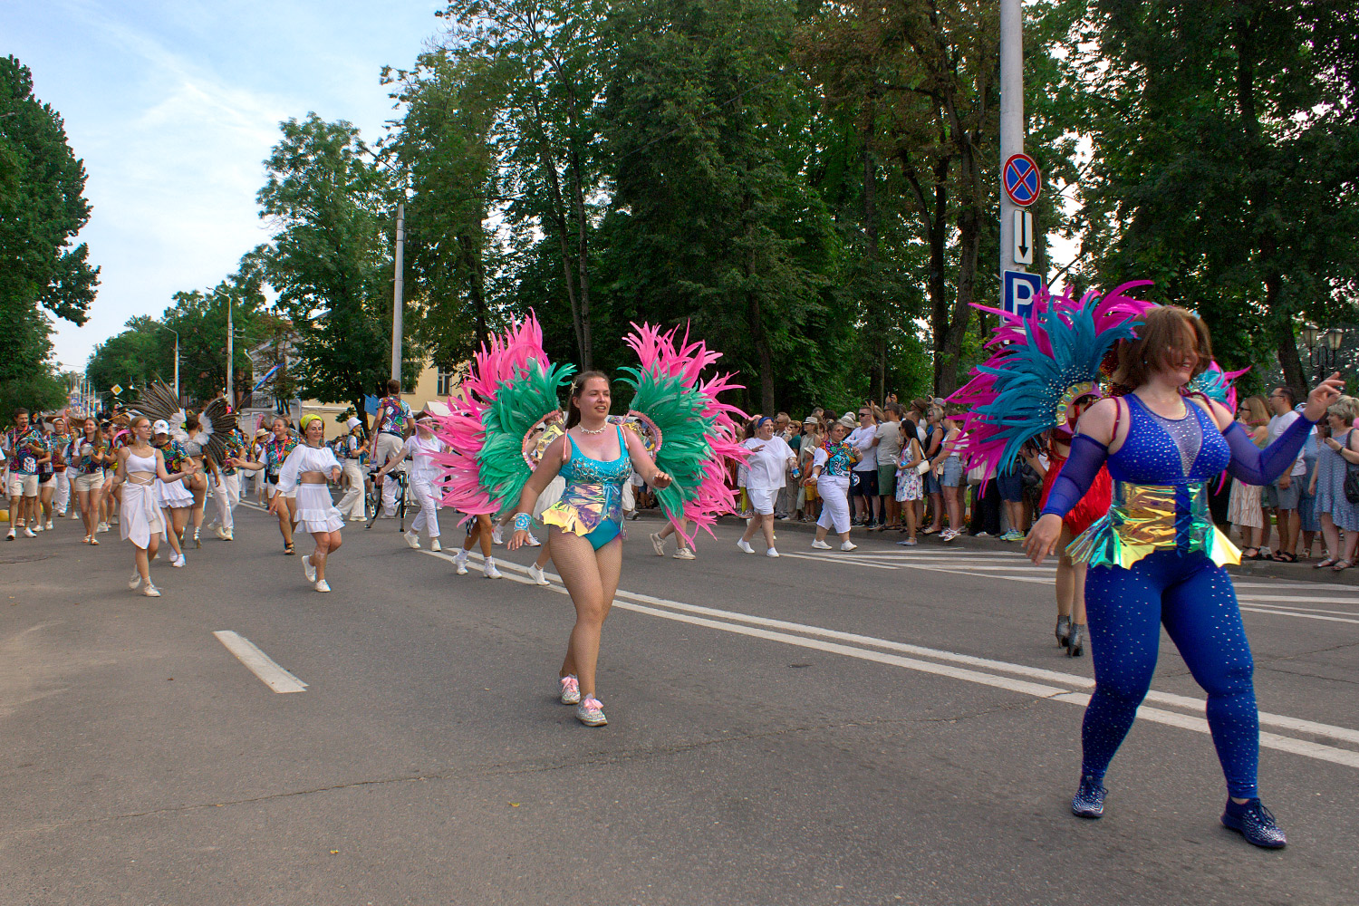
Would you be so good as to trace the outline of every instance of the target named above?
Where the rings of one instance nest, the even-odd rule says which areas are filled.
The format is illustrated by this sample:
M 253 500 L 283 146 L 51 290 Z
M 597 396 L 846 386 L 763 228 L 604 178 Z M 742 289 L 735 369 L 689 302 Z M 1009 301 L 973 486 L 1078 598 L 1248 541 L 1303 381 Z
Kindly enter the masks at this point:
M 258 201 L 276 230 L 265 269 L 296 337 L 294 376 L 302 394 L 361 410 L 390 374 L 394 193 L 348 122 L 313 113 L 280 128 Z M 409 344 L 402 361 L 402 379 L 413 383 Z

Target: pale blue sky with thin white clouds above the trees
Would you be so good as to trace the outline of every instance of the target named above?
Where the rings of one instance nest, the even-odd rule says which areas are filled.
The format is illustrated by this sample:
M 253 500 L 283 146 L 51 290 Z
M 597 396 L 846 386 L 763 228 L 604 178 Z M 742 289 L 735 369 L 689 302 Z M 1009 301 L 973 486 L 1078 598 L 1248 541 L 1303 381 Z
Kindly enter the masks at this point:
M 80 239 L 102 268 L 83 327 L 56 359 L 83 369 L 128 318 L 208 289 L 265 242 L 254 196 L 279 122 L 314 110 L 376 139 L 378 83 L 435 38 L 438 0 L 0 0 L 0 53 L 65 118 L 92 206 Z

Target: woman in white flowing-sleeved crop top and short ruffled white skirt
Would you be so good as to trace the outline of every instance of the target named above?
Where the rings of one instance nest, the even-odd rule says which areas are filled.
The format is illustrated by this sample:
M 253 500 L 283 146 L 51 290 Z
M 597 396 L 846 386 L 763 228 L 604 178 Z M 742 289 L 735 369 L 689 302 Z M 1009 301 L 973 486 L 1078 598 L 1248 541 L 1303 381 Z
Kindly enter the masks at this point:
M 344 516 L 330 500 L 326 482 L 338 482 L 342 470 L 334 451 L 325 446 L 326 424 L 321 416 L 302 417 L 302 436 L 304 443 L 292 448 L 279 470 L 279 493 L 269 501 L 269 512 L 287 512 L 289 493 L 296 490 L 292 512 L 317 542 L 317 549 L 302 558 L 302 572 L 307 575 L 307 581 L 315 583 L 317 591 L 330 591 L 326 558 L 340 550 Z

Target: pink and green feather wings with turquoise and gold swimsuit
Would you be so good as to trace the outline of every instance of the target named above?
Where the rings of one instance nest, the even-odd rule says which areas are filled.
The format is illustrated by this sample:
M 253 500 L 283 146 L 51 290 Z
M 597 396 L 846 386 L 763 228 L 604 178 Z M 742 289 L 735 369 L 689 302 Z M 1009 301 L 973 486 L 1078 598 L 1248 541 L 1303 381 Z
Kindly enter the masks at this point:
M 730 375 L 700 379 L 722 353 L 677 330 L 662 333 L 633 325 L 625 342 L 640 367 L 624 368 L 624 383 L 635 388 L 625 418 L 610 418 L 618 432 L 618 458 L 599 462 L 571 444 L 560 470 L 561 497 L 541 511 L 541 520 L 588 538 L 598 550 L 622 532 L 622 482 L 631 474 L 624 431 L 641 437 L 648 455 L 673 482 L 658 489 L 666 518 L 690 545 L 699 527 L 712 524 L 734 505 L 723 481 L 727 459 L 742 459 L 733 416 L 741 412 L 718 399 L 735 388 Z M 436 435 L 448 451 L 434 458 L 444 467 L 443 501 L 472 515 L 503 515 L 514 509 L 546 443 L 526 452 L 529 437 L 560 413 L 559 393 L 575 372 L 553 365 L 542 349 L 542 329 L 531 314 L 504 336 L 496 336 L 474 356 L 462 386 L 462 399 L 448 399 L 451 416 L 436 417 Z M 552 431 L 550 425 L 546 425 Z M 686 530 L 686 520 L 692 523 Z

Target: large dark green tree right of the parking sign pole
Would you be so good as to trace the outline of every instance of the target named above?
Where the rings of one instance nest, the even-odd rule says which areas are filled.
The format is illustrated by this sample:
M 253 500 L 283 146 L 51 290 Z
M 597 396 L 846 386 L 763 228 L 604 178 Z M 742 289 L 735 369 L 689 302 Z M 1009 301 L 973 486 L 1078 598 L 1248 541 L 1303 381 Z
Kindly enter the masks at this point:
M 1223 364 L 1295 330 L 1355 321 L 1359 7 L 1325 0 L 1068 0 L 1068 77 L 1084 88 L 1087 277 L 1157 281 L 1196 308 Z

